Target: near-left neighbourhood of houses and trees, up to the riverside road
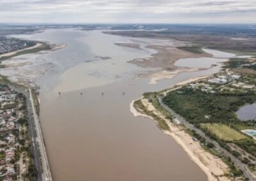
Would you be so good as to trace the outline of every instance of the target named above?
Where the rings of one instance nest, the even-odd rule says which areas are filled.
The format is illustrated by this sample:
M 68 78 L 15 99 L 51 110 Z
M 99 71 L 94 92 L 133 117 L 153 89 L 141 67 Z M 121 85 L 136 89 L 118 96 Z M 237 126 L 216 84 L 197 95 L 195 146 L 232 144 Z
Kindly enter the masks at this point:
M 0 180 L 35 180 L 26 96 L 0 84 Z

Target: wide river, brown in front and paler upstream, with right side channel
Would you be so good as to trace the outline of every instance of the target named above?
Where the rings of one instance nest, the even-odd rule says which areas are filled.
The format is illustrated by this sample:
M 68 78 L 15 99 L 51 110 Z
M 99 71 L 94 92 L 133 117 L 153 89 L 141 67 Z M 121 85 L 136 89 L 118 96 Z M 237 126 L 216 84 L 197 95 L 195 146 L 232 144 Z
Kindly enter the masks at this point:
M 134 41 L 132 38 L 61 29 L 21 37 L 67 43 L 62 50 L 23 56 L 22 60 L 33 64 L 19 69 L 21 75 L 33 66 L 36 69 L 46 64 L 44 69 L 49 69 L 47 74 L 38 75 L 36 83 L 41 87 L 40 122 L 54 180 L 207 180 L 170 136 L 152 120 L 134 117 L 129 105 L 143 92 L 216 73 L 220 65 L 148 84 L 148 78 L 134 79 L 136 73 L 148 69 L 126 62 L 154 52 L 113 44 Z M 168 43 L 159 41 L 140 40 L 142 44 Z M 93 61 L 95 55 L 111 59 Z M 5 73 L 12 74 L 12 69 Z

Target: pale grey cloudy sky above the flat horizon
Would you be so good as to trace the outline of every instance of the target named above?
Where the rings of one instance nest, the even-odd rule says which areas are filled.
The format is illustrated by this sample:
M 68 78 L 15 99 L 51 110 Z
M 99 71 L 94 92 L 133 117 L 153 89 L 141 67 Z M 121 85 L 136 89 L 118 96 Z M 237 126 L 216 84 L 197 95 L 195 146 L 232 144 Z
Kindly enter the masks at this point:
M 0 23 L 256 23 L 256 0 L 0 0 Z

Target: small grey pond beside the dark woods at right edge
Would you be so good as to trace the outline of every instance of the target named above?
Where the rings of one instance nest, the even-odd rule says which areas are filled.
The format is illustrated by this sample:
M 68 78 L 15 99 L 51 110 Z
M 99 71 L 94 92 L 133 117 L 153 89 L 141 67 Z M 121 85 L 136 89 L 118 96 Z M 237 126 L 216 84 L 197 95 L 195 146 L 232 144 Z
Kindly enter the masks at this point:
M 252 105 L 245 105 L 237 112 L 237 117 L 240 120 L 256 119 L 256 103 Z

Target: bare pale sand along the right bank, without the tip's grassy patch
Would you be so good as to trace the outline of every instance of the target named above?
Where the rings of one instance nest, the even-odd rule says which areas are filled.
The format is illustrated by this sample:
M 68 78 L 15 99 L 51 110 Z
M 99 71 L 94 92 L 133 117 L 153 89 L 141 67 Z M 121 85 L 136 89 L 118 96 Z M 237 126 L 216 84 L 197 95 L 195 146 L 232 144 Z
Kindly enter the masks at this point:
M 200 80 L 203 78 L 207 78 L 208 76 L 201 76 L 198 78 L 193 78 L 190 80 L 187 80 L 185 82 L 181 82 L 177 85 L 184 85 L 189 82 L 194 82 L 196 80 Z M 177 86 L 172 87 L 168 89 L 169 92 L 172 89 L 177 89 Z M 205 152 L 204 148 L 201 147 L 200 143 L 198 141 L 194 141 L 191 136 L 189 136 L 188 133 L 186 133 L 184 130 L 180 129 L 179 126 L 175 125 L 174 123 L 170 122 L 170 120 L 167 120 L 164 115 L 161 114 L 152 103 L 148 103 L 147 99 L 140 98 L 141 102 L 145 107 L 147 107 L 148 110 L 154 111 L 154 113 L 161 117 L 161 119 L 164 119 L 168 126 L 170 127 L 170 131 L 164 131 L 165 134 L 168 134 L 169 136 L 172 136 L 172 138 L 184 149 L 184 151 L 188 154 L 188 156 L 191 158 L 191 160 L 196 163 L 207 175 L 207 178 L 209 181 L 227 181 L 230 180 L 227 177 L 224 177 L 223 175 L 228 171 L 227 164 L 223 163 L 221 159 L 215 158 L 210 154 L 209 152 Z M 138 99 L 137 99 L 138 100 Z M 136 101 L 136 100 L 134 100 Z M 145 115 L 143 113 L 138 112 L 134 108 L 134 101 L 130 104 L 130 111 L 133 113 L 135 117 L 141 116 L 146 117 L 149 119 L 154 120 L 152 117 Z M 154 120 L 156 122 L 156 120 Z M 156 122 L 157 124 L 157 122 Z

